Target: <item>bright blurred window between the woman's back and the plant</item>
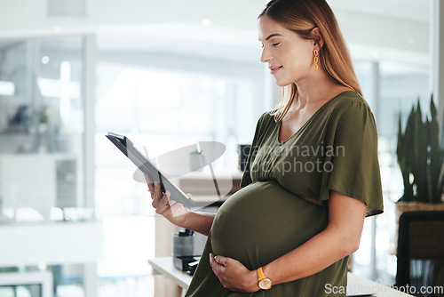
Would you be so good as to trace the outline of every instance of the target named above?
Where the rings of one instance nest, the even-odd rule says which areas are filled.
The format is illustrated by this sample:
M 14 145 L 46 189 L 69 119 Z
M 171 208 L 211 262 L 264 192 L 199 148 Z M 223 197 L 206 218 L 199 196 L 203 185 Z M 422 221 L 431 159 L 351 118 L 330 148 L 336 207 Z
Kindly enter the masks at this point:
M 418 99 L 421 106 L 428 110 L 428 68 L 392 61 L 361 61 L 355 63 L 355 69 L 364 98 L 368 100 L 377 120 L 385 213 L 365 221 L 360 249 L 354 254 L 353 272 L 383 284 L 392 284 L 396 274 L 396 257 L 392 251 L 394 202 L 402 196 L 403 191 L 396 157 L 398 118 L 401 114 L 405 125 L 408 112 Z

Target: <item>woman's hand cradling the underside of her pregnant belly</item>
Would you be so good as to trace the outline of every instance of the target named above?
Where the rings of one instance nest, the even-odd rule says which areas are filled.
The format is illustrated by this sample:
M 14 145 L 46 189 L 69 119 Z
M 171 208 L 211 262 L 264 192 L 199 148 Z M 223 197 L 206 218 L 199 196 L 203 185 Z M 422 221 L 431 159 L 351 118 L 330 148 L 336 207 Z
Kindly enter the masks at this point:
M 259 290 L 258 273 L 250 271 L 240 261 L 210 253 L 210 266 L 227 290 L 245 293 Z

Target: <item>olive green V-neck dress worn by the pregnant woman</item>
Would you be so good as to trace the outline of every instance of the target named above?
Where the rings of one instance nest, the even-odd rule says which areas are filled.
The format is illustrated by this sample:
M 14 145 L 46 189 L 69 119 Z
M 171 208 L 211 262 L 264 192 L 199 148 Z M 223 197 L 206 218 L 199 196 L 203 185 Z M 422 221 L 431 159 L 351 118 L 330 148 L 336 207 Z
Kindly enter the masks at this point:
M 357 92 L 327 101 L 282 143 L 280 128 L 270 113 L 258 120 L 242 189 L 219 208 L 186 296 L 345 296 L 331 288 L 346 286 L 348 257 L 313 276 L 256 293 L 226 290 L 210 268 L 210 253 L 253 270 L 303 245 L 327 227 L 330 190 L 365 202 L 368 216 L 382 213 L 376 124 Z M 314 197 L 321 205 L 298 196 Z

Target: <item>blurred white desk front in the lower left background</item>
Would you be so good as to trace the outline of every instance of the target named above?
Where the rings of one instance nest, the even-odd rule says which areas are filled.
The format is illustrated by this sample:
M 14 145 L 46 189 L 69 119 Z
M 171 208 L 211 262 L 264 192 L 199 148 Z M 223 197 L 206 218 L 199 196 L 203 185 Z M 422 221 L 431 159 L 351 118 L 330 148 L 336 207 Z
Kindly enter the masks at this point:
M 0 267 L 95 263 L 102 256 L 101 221 L 0 224 Z M 5 255 L 5 256 L 4 256 Z

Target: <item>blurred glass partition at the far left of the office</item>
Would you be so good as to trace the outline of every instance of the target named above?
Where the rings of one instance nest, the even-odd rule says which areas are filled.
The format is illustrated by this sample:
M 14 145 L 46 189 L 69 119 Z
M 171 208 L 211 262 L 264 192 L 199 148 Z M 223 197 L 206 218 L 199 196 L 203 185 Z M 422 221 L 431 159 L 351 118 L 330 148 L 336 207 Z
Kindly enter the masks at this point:
M 83 36 L 0 41 L 1 221 L 79 216 L 83 47 Z

